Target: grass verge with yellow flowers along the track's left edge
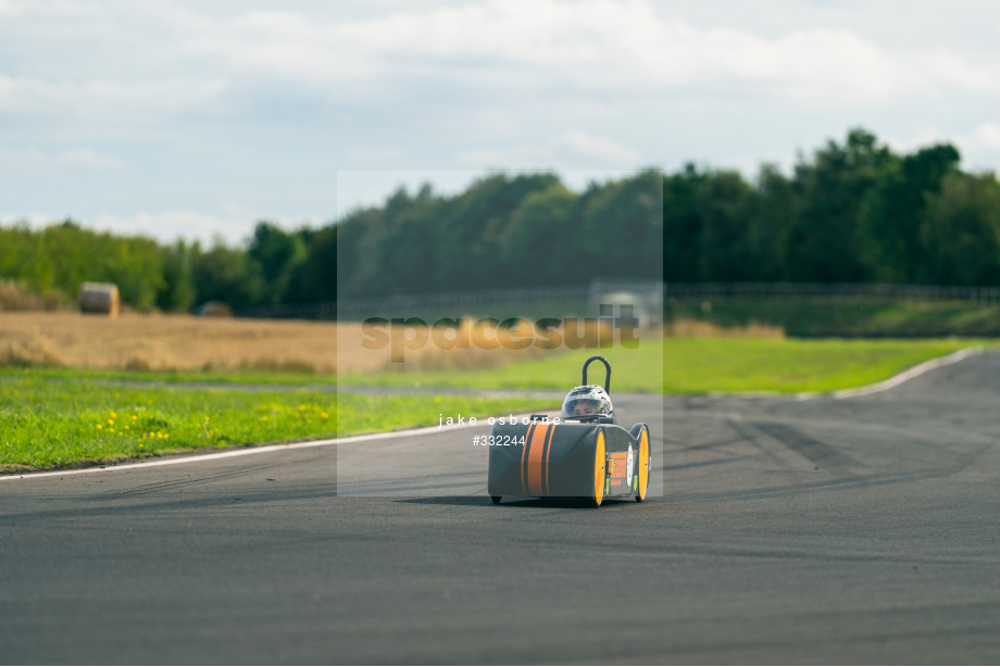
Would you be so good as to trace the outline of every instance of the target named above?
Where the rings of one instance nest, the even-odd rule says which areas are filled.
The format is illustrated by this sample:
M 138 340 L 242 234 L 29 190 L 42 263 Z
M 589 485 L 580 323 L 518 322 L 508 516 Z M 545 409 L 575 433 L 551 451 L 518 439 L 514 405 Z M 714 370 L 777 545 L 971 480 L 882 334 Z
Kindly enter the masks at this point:
M 77 376 L 85 375 L 77 372 Z M 552 401 L 247 392 L 50 381 L 0 381 L 0 469 L 72 467 L 203 448 L 330 438 L 489 416 Z

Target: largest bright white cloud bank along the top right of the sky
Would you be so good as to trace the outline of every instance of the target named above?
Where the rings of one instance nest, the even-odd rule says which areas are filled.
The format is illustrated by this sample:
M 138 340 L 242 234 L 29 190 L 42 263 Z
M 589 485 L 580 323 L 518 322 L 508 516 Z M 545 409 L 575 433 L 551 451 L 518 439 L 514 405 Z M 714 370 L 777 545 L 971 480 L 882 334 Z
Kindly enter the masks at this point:
M 435 79 L 511 90 L 703 90 L 743 85 L 793 101 L 868 104 L 1000 90 L 1000 63 L 889 50 L 846 27 L 776 37 L 698 27 L 645 0 L 489 0 L 363 21 L 255 12 L 186 45 L 192 53 L 310 85 Z M 338 90 L 353 95 L 357 90 Z

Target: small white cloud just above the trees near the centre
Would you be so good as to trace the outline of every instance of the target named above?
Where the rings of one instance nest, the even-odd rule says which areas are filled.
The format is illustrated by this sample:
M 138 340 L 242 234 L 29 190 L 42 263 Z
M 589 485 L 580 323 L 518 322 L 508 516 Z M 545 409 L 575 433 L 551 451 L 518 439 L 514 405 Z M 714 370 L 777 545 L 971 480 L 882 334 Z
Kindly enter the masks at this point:
M 485 168 L 579 169 L 635 168 L 639 154 L 610 139 L 580 130 L 562 133 L 542 143 L 518 143 L 501 149 L 464 151 L 459 162 Z

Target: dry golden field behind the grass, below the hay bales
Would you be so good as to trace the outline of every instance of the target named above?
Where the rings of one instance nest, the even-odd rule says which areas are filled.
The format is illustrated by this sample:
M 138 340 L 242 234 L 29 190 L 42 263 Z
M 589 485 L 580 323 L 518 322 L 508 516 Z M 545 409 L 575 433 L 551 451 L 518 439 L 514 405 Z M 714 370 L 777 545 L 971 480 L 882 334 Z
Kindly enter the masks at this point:
M 470 342 L 464 348 L 442 350 L 427 340 L 418 349 L 405 350 L 404 364 L 392 364 L 391 345 L 375 350 L 362 345 L 365 336 L 358 323 L 0 312 L 0 365 L 368 373 L 480 368 L 565 351 L 534 345 L 486 350 L 497 331 L 468 323 L 461 335 Z M 585 332 L 588 342 L 609 335 L 599 326 L 588 326 Z

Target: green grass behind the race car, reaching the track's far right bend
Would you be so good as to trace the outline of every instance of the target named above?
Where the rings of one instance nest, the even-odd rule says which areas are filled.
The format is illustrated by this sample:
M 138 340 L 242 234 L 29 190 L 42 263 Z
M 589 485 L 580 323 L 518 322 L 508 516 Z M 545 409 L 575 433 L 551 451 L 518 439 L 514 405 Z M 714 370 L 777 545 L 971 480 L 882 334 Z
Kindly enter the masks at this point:
M 678 338 L 645 341 L 636 350 L 577 350 L 546 360 L 455 373 L 378 373 L 345 376 L 343 385 L 552 389 L 580 380 L 592 354 L 612 365 L 616 391 L 708 393 L 713 391 L 834 391 L 885 380 L 905 368 L 976 340 L 842 340 L 777 338 Z M 591 365 L 591 382 L 603 368 Z

